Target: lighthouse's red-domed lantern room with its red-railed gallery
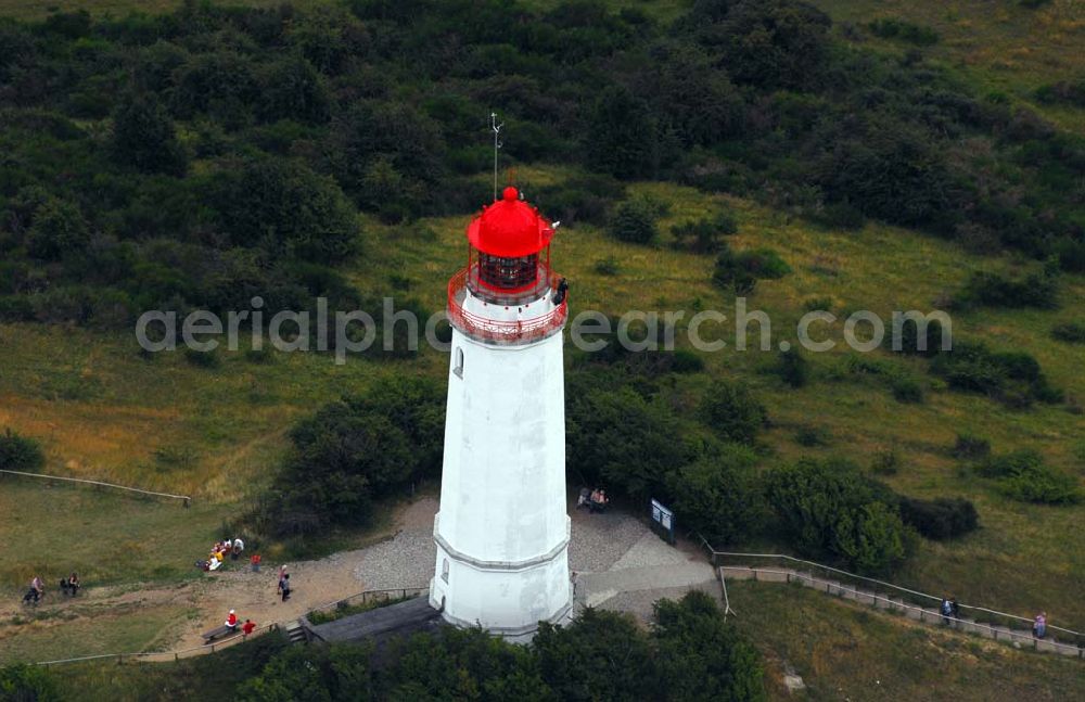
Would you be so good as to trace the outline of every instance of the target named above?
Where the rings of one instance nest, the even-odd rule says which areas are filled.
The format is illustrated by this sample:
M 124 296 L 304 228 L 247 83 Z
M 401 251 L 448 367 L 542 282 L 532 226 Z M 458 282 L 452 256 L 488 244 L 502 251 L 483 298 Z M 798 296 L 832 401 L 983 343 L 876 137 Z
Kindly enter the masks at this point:
M 550 269 L 550 220 L 509 187 L 471 220 L 467 233 L 468 266 L 448 286 L 452 324 L 471 336 L 505 342 L 560 330 L 565 284 Z

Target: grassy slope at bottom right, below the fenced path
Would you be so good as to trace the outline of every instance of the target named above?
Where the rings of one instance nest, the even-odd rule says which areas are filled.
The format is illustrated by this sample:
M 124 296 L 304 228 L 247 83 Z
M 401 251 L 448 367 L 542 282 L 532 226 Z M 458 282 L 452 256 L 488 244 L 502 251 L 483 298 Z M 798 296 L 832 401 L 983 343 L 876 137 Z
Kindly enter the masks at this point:
M 801 586 L 728 584 L 732 620 L 766 658 L 774 699 L 790 666 L 810 700 L 1075 699 L 1085 694 L 1076 659 L 1018 651 L 1004 643 L 876 613 Z

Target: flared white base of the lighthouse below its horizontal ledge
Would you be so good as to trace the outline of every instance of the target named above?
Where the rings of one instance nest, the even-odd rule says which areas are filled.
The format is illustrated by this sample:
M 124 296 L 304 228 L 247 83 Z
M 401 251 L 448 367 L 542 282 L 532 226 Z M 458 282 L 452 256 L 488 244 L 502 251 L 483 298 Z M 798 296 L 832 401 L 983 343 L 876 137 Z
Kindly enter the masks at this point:
M 459 552 L 439 534 L 430 603 L 446 622 L 529 640 L 539 622 L 566 623 L 573 612 L 569 539 L 550 552 L 515 562 L 481 561 Z

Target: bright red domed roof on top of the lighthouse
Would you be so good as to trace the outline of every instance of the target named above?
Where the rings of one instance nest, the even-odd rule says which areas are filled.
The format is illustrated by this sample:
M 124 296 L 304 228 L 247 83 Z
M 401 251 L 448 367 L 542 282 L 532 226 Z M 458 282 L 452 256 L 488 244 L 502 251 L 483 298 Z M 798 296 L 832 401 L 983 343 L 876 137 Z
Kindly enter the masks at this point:
M 553 228 L 538 209 L 520 200 L 511 186 L 501 200 L 483 209 L 468 225 L 468 241 L 478 251 L 502 258 L 536 254 L 550 244 Z

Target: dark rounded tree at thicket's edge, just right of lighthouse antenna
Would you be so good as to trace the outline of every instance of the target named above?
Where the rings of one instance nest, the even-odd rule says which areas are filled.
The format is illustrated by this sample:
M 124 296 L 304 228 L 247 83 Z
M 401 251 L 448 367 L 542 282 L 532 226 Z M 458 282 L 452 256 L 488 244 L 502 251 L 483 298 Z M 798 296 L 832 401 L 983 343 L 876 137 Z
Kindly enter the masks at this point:
M 616 178 L 651 176 L 659 164 L 656 126 L 648 106 L 627 88 L 603 89 L 588 114 L 584 152 L 595 170 Z

